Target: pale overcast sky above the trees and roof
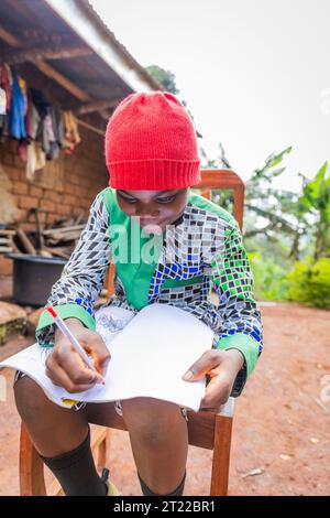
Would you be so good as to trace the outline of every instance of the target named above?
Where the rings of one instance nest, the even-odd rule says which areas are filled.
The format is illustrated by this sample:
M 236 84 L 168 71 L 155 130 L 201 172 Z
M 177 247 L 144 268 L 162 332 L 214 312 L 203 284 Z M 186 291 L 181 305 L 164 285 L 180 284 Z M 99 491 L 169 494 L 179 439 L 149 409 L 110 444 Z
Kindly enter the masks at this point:
M 91 0 L 143 66 L 176 76 L 210 158 L 248 179 L 293 145 L 282 188 L 330 159 L 330 0 Z

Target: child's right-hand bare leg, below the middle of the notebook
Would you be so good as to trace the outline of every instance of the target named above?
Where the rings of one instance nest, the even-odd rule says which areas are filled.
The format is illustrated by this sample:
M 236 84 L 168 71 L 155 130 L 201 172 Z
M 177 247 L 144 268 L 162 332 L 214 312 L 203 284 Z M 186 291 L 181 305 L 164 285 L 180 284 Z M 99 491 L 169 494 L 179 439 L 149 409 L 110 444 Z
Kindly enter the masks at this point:
M 153 493 L 170 494 L 184 478 L 188 454 L 180 408 L 153 398 L 123 400 L 122 408 L 141 478 Z

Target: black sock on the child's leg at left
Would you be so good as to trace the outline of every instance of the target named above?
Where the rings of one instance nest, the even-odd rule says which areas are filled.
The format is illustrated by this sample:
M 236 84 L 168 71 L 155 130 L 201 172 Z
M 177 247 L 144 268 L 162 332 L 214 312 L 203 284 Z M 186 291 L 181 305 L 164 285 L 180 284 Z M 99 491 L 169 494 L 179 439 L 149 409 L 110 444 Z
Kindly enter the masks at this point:
M 107 485 L 99 477 L 90 450 L 90 431 L 85 441 L 75 450 L 55 457 L 43 457 L 53 472 L 66 496 L 105 496 Z

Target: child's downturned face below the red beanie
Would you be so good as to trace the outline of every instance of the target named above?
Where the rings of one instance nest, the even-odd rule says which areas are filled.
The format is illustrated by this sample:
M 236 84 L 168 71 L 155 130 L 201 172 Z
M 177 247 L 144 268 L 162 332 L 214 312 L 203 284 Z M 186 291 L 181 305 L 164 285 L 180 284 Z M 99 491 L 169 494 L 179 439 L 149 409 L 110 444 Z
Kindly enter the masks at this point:
M 189 188 L 169 191 L 123 191 L 117 190 L 117 199 L 128 216 L 140 217 L 141 227 L 157 225 L 164 230 L 185 211 Z

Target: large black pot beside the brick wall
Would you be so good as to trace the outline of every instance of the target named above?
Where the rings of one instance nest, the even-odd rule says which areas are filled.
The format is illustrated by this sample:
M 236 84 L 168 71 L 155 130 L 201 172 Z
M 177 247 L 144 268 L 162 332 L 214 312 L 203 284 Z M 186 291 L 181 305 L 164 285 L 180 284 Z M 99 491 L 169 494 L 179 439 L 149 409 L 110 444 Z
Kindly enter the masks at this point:
M 8 253 L 13 259 L 13 298 L 20 304 L 45 305 L 53 284 L 59 279 L 65 259 Z

